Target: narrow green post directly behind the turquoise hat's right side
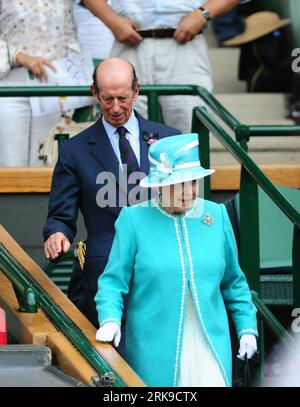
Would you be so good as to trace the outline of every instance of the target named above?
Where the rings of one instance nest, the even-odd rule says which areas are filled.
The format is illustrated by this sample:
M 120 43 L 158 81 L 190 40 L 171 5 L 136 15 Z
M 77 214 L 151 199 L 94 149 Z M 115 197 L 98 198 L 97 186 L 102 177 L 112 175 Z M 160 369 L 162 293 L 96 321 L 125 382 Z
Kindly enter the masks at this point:
M 199 159 L 204 168 L 210 168 L 209 130 L 196 115 L 193 109 L 192 132 L 199 135 Z M 204 178 L 204 198 L 210 198 L 210 177 Z

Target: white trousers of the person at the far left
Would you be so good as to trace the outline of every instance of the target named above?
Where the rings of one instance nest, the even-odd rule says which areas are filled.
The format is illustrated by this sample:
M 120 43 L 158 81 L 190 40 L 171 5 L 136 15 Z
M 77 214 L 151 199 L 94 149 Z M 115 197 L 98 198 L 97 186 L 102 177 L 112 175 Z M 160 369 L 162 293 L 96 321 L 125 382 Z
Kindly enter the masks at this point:
M 26 86 L 25 68 L 12 69 L 0 86 Z M 43 166 L 40 140 L 59 121 L 60 113 L 32 117 L 29 97 L 0 97 L 0 167 Z

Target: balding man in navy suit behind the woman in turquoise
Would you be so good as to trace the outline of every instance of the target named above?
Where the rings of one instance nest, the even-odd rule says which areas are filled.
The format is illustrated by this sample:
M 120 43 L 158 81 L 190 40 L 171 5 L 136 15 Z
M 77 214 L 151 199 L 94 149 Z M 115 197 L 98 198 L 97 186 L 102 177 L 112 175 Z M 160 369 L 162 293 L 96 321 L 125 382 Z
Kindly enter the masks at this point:
M 60 147 L 44 227 L 44 250 L 51 259 L 69 250 L 80 209 L 87 230 L 86 257 L 83 270 L 74 259 L 68 296 L 98 326 L 94 297 L 114 238 L 114 223 L 121 207 L 136 203 L 134 197 L 138 198 L 137 192 L 131 196 L 136 187 L 130 190 L 130 178 L 123 172 L 117 129 L 125 127 L 125 143 L 129 141 L 130 155 L 135 155 L 136 165 L 144 174 L 149 171 L 150 142 L 180 131 L 145 120 L 133 110 L 139 84 L 134 67 L 123 59 L 110 58 L 96 68 L 92 92 L 102 116 Z

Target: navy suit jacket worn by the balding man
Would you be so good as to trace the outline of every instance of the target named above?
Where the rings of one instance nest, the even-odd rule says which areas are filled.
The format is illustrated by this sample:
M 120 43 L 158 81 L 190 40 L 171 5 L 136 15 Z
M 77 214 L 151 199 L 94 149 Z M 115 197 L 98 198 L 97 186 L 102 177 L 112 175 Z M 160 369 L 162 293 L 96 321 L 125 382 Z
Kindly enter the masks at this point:
M 148 174 L 149 144 L 143 139 L 143 134 L 157 133 L 159 138 L 163 138 L 180 134 L 180 131 L 145 120 L 137 112 L 135 114 L 140 127 L 140 169 Z M 86 309 L 84 303 L 87 297 L 92 297 L 94 306 L 93 298 L 97 290 L 98 276 L 106 266 L 115 234 L 114 223 L 121 210 L 118 206 L 98 205 L 97 193 L 103 187 L 103 183 L 99 181 L 99 174 L 101 176 L 103 171 L 114 174 L 117 182 L 117 201 L 123 199 L 124 202 L 122 195 L 125 194 L 126 204 L 126 188 L 124 180 L 121 179 L 122 175 L 120 177 L 119 167 L 119 161 L 100 118 L 91 127 L 60 146 L 53 173 L 44 239 L 55 232 L 62 232 L 70 242 L 73 242 L 78 210 L 82 212 L 87 230 L 86 262 L 81 278 L 78 270 L 77 277 L 73 271 L 73 281 L 71 279 L 68 294 L 88 317 L 90 310 Z M 83 277 L 89 281 L 79 281 Z M 94 320 L 91 317 L 90 319 Z

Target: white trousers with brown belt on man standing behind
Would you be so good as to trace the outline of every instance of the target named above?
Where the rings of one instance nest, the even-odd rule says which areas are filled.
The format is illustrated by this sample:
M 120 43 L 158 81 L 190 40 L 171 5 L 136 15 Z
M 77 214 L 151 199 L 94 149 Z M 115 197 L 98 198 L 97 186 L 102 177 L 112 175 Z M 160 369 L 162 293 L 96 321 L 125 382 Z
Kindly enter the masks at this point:
M 111 56 L 131 62 L 142 85 L 189 84 L 212 91 L 207 44 L 201 34 L 185 44 L 178 44 L 173 38 L 146 38 L 136 47 L 115 42 Z M 191 131 L 193 107 L 205 105 L 198 96 L 161 96 L 159 102 L 164 122 L 184 133 Z M 146 97 L 140 96 L 135 108 L 148 117 Z

